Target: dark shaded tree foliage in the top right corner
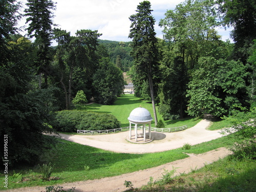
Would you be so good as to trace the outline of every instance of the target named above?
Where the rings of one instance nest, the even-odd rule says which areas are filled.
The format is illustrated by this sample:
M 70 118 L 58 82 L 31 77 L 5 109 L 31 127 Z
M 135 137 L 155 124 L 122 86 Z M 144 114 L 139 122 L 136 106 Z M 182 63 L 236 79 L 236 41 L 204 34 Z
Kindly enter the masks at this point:
M 256 39 L 256 3 L 254 0 L 219 0 L 224 26 L 232 26 L 236 59 L 245 64 L 252 41 Z

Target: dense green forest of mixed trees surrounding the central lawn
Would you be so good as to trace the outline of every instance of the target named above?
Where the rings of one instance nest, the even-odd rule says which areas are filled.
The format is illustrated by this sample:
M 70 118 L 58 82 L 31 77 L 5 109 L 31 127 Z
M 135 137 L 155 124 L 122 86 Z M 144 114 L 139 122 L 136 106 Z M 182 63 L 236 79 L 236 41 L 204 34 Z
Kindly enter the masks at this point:
M 9 137 L 10 165 L 34 163 L 54 144 L 41 133 L 52 132 L 52 113 L 71 110 L 79 95 L 113 104 L 123 92 L 123 72 L 131 75 L 136 96 L 159 105 L 165 120 L 255 107 L 253 0 L 186 0 L 163 15 L 164 39 L 155 37 L 153 10 L 144 1 L 130 17 L 130 42 L 101 40 L 90 29 L 71 36 L 54 27 L 51 0 L 28 0 L 27 6 L 20 15 L 17 1 L 0 2 L 0 135 Z M 26 37 L 16 28 L 21 17 Z M 233 27 L 233 44 L 221 40 L 218 26 Z

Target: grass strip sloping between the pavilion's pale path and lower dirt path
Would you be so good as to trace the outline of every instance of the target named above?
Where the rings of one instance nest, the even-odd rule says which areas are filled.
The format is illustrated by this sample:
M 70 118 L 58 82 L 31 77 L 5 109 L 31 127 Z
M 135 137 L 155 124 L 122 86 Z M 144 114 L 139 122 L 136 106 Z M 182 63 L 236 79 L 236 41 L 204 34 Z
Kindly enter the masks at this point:
M 9 170 L 8 188 L 36 185 L 50 186 L 55 184 L 61 186 L 61 183 L 64 182 L 117 176 L 188 157 L 184 152 L 204 153 L 221 146 L 228 146 L 231 143 L 231 140 L 223 137 L 191 146 L 190 150 L 178 148 L 160 153 L 124 154 L 104 151 L 95 147 L 59 139 L 58 146 L 41 157 L 42 162 L 40 164 L 43 162 L 55 164 L 51 181 L 42 181 L 40 179 L 41 174 L 38 166 L 22 167 Z M 4 178 L 2 173 L 0 175 L 1 180 Z M 5 189 L 3 185 L 0 186 L 1 189 Z

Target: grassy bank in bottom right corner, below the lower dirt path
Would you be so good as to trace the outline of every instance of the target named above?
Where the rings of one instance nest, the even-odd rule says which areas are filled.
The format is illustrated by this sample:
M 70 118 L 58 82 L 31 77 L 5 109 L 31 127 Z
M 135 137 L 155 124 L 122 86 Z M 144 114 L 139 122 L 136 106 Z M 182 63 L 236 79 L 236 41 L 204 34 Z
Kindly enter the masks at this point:
M 166 170 L 162 179 L 150 178 L 147 185 L 127 191 L 248 191 L 255 190 L 256 162 L 252 160 L 237 161 L 232 157 L 221 159 L 205 165 L 189 174 L 173 177 L 175 169 Z

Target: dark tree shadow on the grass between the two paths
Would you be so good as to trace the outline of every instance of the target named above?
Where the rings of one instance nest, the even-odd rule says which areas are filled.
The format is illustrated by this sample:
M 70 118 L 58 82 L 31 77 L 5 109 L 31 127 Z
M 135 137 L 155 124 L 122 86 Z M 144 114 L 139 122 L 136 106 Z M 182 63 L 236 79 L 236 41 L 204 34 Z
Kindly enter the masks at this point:
M 61 173 L 81 171 L 86 167 L 90 167 L 89 170 L 104 168 L 118 161 L 141 157 L 143 154 L 108 152 L 88 145 L 60 140 L 51 162 L 55 164 L 53 172 Z

